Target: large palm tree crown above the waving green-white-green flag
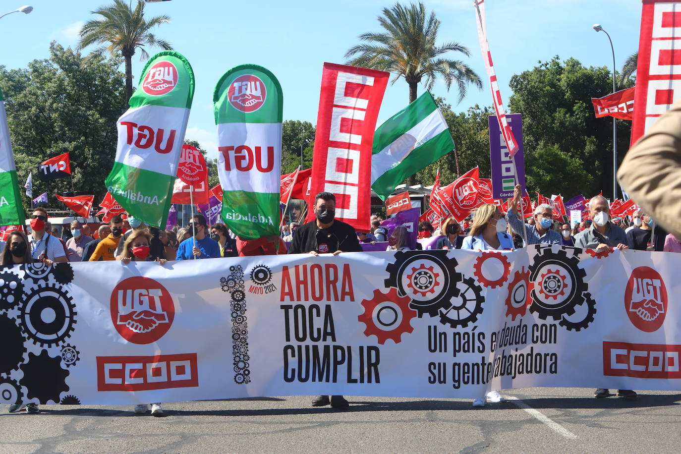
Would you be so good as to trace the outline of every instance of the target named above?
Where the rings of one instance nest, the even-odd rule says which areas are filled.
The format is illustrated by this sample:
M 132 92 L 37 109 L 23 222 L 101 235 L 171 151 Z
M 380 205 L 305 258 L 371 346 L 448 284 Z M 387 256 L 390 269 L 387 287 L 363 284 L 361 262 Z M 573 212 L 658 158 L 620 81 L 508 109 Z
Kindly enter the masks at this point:
M 395 74 L 394 84 L 400 77 L 409 84 L 409 102 L 416 99 L 419 82 L 425 78 L 426 89 L 430 90 L 438 77 L 443 78 L 447 90 L 452 82 L 459 90 L 459 102 L 466 96 L 467 84 L 482 88 L 482 82 L 475 71 L 460 60 L 441 58 L 446 52 L 462 52 L 470 56 L 468 48 L 456 42 L 436 46 L 440 21 L 431 12 L 426 14 L 423 3 L 409 6 L 396 3 L 390 9 L 383 8 L 378 17 L 384 33 L 364 33 L 364 43 L 351 47 L 345 58 L 348 65 L 361 66 Z M 356 55 L 356 56 L 355 56 Z M 351 58 L 355 56 L 354 58 Z

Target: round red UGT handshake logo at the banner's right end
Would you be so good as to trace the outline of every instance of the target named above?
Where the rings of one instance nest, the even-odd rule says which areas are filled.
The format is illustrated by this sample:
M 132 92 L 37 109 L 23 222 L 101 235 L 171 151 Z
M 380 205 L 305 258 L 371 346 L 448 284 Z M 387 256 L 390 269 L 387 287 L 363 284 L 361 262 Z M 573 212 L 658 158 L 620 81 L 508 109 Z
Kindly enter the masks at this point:
M 667 289 L 660 274 L 647 266 L 635 268 L 624 292 L 624 308 L 641 331 L 659 329 L 667 313 Z

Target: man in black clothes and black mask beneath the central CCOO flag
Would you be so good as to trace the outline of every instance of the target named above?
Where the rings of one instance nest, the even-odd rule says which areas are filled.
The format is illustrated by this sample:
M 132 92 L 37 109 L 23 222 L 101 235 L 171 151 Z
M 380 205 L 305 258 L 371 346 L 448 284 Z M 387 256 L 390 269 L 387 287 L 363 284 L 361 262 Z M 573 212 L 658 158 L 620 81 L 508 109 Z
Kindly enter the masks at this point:
M 312 255 L 351 253 L 362 251 L 357 239 L 355 228 L 351 225 L 334 220 L 336 215 L 336 196 L 332 193 L 319 193 L 315 196 L 314 221 L 298 227 L 293 242 L 289 247 L 289 254 Z M 349 405 L 342 395 L 317 395 L 312 400 L 312 406 L 331 404 L 336 408 L 347 408 Z

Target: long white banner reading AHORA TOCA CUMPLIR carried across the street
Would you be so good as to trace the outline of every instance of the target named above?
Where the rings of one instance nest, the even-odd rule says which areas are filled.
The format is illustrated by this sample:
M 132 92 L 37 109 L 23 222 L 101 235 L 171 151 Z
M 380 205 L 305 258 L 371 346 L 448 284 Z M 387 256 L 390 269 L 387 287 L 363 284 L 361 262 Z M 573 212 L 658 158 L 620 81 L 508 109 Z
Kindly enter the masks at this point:
M 0 403 L 678 390 L 680 267 L 557 246 L 22 265 Z

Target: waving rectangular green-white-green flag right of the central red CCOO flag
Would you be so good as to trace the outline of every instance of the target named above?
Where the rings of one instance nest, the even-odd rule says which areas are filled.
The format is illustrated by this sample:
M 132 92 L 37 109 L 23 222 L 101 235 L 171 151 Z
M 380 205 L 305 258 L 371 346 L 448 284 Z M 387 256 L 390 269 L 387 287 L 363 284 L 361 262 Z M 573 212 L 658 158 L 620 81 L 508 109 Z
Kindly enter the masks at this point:
M 385 200 L 405 178 L 452 150 L 447 122 L 426 91 L 374 133 L 371 189 Z

